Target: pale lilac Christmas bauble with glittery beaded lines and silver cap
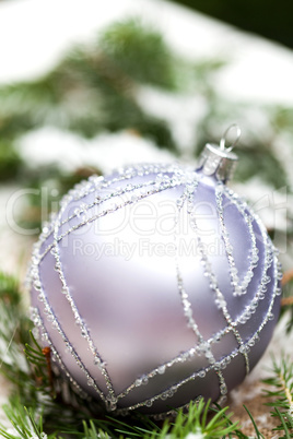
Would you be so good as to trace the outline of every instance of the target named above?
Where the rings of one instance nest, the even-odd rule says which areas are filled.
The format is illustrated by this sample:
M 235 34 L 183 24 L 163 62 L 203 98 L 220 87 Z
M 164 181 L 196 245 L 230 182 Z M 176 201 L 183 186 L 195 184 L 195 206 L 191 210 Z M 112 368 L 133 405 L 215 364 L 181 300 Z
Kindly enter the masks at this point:
M 66 379 L 108 411 L 221 400 L 265 352 L 281 272 L 265 226 L 225 185 L 236 161 L 223 139 L 197 170 L 93 176 L 44 226 L 33 321 Z

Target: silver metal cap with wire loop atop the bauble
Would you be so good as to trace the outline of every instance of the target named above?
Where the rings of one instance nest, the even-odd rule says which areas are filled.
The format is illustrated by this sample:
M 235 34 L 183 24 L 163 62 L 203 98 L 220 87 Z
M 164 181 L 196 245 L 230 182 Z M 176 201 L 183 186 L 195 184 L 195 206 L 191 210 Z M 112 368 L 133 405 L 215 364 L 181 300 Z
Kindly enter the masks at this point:
M 228 147 L 225 146 L 226 135 L 232 128 L 236 128 L 236 139 Z M 241 138 L 241 129 L 237 124 L 230 126 L 224 132 L 220 145 L 207 143 L 200 157 L 197 170 L 207 176 L 215 176 L 218 180 L 226 182 L 232 178 L 238 156 L 232 152 Z

